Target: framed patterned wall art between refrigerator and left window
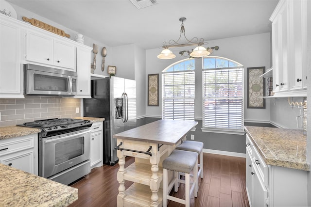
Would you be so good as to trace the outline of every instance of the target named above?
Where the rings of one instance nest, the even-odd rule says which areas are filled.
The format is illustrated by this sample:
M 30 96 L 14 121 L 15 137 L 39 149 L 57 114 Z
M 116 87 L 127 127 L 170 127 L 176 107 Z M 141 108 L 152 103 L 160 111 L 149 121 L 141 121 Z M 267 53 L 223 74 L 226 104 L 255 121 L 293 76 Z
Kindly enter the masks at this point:
M 159 106 L 159 74 L 148 75 L 148 106 Z

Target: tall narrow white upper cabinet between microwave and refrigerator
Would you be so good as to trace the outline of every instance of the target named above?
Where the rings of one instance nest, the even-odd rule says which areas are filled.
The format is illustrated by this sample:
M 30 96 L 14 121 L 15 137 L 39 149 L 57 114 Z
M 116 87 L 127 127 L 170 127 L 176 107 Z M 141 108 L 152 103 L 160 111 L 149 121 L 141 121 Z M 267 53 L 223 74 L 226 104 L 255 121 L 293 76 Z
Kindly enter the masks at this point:
M 77 96 L 75 98 L 90 98 L 91 94 L 91 50 L 77 47 Z

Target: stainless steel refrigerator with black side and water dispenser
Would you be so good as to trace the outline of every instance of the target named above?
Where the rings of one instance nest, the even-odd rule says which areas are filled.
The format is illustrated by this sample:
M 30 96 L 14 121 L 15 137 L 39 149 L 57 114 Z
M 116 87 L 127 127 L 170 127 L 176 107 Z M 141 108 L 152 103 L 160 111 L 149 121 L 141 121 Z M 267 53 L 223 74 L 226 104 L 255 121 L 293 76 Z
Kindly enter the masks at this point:
M 136 127 L 136 81 L 119 77 L 91 80 L 91 96 L 83 100 L 85 117 L 104 121 L 104 164 L 118 162 L 114 134 Z

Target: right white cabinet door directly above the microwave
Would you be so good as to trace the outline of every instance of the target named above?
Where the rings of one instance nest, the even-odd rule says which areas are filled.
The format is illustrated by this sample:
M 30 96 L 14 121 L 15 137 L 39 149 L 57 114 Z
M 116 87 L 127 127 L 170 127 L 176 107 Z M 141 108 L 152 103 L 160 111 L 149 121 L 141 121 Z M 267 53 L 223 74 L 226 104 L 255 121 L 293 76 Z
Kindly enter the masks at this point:
M 74 70 L 76 60 L 74 45 L 60 40 L 54 40 L 54 65 Z

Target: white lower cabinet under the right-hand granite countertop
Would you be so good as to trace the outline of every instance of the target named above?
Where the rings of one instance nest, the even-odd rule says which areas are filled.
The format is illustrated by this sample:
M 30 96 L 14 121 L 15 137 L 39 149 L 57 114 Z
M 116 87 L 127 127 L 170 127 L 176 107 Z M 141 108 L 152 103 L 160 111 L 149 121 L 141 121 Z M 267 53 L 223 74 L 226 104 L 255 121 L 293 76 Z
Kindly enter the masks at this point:
M 307 206 L 308 173 L 266 165 L 246 134 L 246 192 L 250 207 Z

